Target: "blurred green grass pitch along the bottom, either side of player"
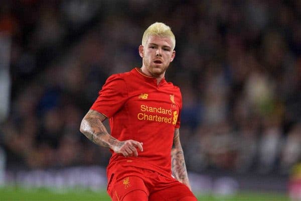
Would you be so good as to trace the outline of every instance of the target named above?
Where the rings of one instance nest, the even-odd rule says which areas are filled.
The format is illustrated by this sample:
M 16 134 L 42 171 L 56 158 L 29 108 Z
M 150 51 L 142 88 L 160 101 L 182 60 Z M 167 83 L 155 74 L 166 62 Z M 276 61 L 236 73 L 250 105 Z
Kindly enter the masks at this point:
M 1 201 L 109 201 L 106 192 L 95 192 L 81 188 L 54 191 L 45 188 L 0 188 Z M 198 200 L 204 201 L 289 201 L 284 194 L 240 192 L 236 195 L 216 196 L 212 194 L 198 195 Z

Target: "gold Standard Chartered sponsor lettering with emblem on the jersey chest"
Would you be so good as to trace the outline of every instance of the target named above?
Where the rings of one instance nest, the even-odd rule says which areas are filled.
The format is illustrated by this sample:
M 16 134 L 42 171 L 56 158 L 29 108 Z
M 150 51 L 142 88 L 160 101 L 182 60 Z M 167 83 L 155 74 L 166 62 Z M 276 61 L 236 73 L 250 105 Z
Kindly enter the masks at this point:
M 138 113 L 138 120 L 164 122 L 176 125 L 178 119 L 177 111 L 172 112 L 172 109 L 165 109 L 162 107 L 149 107 L 146 105 L 140 106 L 140 113 Z M 147 112 L 147 113 L 146 113 Z M 152 114 L 153 113 L 153 114 Z M 166 117 L 166 116 L 170 117 Z

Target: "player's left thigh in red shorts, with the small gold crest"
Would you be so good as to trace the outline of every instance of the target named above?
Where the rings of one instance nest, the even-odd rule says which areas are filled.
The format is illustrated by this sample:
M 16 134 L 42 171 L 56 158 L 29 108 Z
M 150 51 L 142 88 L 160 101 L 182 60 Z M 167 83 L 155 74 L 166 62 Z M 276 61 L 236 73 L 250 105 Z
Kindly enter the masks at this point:
M 123 200 L 123 198 L 126 197 L 127 194 L 130 193 L 129 196 L 134 194 L 131 192 L 136 192 L 138 194 L 140 194 L 140 192 L 143 192 L 144 193 L 144 194 L 142 193 L 143 197 L 145 196 L 145 194 L 146 197 L 148 197 L 149 194 L 143 180 L 138 176 L 127 176 L 122 179 L 118 179 L 114 181 L 111 184 L 108 193 L 113 201 L 121 201 Z M 135 199 L 135 200 L 140 200 L 140 199 Z M 144 199 L 141 200 L 144 201 Z

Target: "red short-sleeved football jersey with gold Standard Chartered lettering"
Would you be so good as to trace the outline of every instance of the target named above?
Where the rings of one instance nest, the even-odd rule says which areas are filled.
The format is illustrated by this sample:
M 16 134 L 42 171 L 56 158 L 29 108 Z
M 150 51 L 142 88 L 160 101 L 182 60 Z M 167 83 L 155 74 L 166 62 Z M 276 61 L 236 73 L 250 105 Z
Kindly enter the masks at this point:
M 109 118 L 111 135 L 120 140 L 143 142 L 137 157 L 112 152 L 110 174 L 124 166 L 151 169 L 171 175 L 171 149 L 175 128 L 180 128 L 182 95 L 179 87 L 164 78 L 146 76 L 137 68 L 111 75 L 91 110 Z

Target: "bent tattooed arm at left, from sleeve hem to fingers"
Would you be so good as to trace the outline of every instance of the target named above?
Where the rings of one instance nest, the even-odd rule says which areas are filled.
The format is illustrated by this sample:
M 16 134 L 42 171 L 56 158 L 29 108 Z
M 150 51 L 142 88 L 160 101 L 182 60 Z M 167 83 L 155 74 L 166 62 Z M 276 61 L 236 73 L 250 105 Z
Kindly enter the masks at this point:
M 110 148 L 115 153 L 120 153 L 125 157 L 137 156 L 137 148 L 143 151 L 143 144 L 140 142 L 134 140 L 119 141 L 111 136 L 102 124 L 105 119 L 103 114 L 89 110 L 81 122 L 80 132 L 95 144 Z

